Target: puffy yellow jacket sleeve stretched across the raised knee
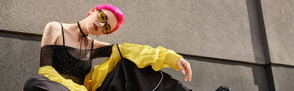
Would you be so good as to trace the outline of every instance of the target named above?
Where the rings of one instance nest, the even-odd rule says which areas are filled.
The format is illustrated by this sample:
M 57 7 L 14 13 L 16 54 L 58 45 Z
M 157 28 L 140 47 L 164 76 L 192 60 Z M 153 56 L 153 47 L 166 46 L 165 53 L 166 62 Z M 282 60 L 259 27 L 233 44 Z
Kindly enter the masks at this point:
M 176 65 L 181 55 L 176 54 L 173 50 L 166 49 L 162 46 L 152 48 L 148 45 L 123 44 L 120 50 L 124 58 L 134 62 L 138 68 L 145 68 L 152 64 L 155 71 L 161 68 L 171 67 L 178 70 Z M 120 55 L 118 55 L 120 56 Z

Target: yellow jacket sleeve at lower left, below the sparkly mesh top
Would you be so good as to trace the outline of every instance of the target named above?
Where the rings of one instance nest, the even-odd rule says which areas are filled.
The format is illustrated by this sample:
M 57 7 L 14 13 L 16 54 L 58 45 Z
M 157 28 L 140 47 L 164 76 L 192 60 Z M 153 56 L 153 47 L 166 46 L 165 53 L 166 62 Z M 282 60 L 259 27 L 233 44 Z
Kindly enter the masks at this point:
M 63 78 L 53 67 L 51 66 L 44 66 L 39 68 L 39 74 L 46 76 L 51 81 L 58 82 L 71 91 L 87 91 L 87 89 L 83 85 L 78 85 L 74 83 L 70 79 Z

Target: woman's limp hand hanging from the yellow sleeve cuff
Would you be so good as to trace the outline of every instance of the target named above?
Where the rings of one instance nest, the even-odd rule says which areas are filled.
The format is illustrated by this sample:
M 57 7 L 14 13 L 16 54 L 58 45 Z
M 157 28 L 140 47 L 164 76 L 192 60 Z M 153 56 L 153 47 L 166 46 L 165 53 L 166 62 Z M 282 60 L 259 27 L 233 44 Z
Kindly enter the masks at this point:
M 176 65 L 180 68 L 181 72 L 183 74 L 186 74 L 186 78 L 184 79 L 185 82 L 187 80 L 189 80 L 189 82 L 191 82 L 191 77 L 192 77 L 192 69 L 190 67 L 190 63 L 187 62 L 185 59 L 183 59 L 182 57 L 178 60 L 178 62 L 176 63 Z

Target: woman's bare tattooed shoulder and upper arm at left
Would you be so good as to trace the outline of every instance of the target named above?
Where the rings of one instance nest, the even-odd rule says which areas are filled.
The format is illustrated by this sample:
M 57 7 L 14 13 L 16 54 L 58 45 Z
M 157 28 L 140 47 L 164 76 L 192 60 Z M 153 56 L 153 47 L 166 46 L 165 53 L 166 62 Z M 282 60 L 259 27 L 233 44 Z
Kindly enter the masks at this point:
M 56 39 L 61 34 L 61 25 L 58 22 L 50 22 L 45 26 L 41 46 L 55 45 Z

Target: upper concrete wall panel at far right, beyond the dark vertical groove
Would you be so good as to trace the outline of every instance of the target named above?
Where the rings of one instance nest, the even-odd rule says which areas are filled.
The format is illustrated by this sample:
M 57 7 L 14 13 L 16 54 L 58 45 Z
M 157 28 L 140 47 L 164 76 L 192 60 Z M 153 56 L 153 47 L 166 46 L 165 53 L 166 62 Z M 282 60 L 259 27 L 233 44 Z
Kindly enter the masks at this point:
M 294 66 L 294 1 L 261 0 L 270 61 Z

